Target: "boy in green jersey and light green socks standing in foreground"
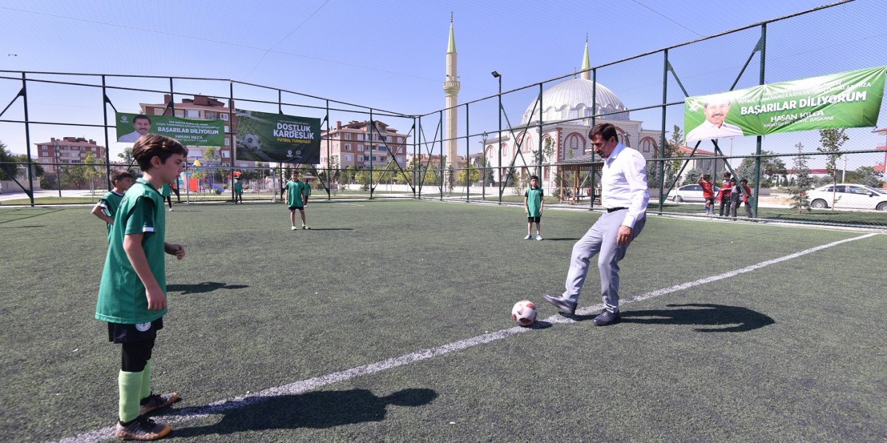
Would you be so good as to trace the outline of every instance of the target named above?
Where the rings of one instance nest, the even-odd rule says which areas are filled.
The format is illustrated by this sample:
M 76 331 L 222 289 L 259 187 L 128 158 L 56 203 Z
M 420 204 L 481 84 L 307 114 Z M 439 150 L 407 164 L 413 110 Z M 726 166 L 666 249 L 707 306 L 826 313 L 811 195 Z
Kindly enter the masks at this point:
M 184 246 L 167 243 L 166 213 L 158 190 L 184 169 L 187 150 L 176 140 L 149 134 L 132 148 L 144 175 L 126 192 L 114 216 L 96 318 L 108 323 L 108 340 L 122 345 L 118 422 L 121 439 L 161 439 L 169 425 L 145 415 L 178 400 L 176 392 L 151 392 L 151 354 L 167 312 L 164 253 L 184 258 Z

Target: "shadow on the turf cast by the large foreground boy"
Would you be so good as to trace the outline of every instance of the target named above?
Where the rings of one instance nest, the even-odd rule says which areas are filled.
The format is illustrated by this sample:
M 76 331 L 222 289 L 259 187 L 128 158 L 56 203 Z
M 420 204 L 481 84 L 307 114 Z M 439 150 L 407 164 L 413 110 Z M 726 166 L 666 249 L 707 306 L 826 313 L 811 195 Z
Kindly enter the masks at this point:
M 216 424 L 177 428 L 176 437 L 231 434 L 270 429 L 332 428 L 342 424 L 381 422 L 389 405 L 421 406 L 437 398 L 432 389 L 411 388 L 377 397 L 365 389 L 318 391 L 244 400 L 247 404 L 222 412 Z M 195 408 L 193 414 L 213 414 Z M 189 414 L 188 408 L 181 413 Z

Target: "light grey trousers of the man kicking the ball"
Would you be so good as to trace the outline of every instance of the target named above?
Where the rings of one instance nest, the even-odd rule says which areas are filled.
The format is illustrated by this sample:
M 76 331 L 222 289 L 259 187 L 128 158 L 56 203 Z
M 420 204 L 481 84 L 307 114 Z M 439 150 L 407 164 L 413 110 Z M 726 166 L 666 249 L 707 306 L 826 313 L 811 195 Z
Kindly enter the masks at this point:
M 579 292 L 585 284 L 585 276 L 588 274 L 588 262 L 595 254 L 598 255 L 598 269 L 600 270 L 600 295 L 604 306 L 610 311 L 619 308 L 619 260 L 625 257 L 628 246 L 616 245 L 616 234 L 619 226 L 625 219 L 625 211 L 615 211 L 603 214 L 595 221 L 592 228 L 588 229 L 585 236 L 573 245 L 573 255 L 569 260 L 569 272 L 567 273 L 567 291 L 563 296 L 574 302 L 579 300 Z M 647 217 L 641 217 L 635 221 L 632 229 L 632 240 L 640 235 L 644 229 Z

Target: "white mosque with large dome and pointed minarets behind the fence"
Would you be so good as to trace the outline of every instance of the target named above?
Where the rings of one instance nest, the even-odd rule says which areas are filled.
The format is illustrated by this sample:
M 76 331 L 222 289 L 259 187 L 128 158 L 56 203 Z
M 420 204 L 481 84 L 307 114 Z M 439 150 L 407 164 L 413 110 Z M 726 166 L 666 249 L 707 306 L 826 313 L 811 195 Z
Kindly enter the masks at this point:
M 534 167 L 525 168 L 525 166 L 533 164 L 533 151 L 538 150 L 539 137 L 542 138 L 543 147 L 546 144 L 552 144 L 553 147 L 552 156 L 544 159 L 544 164 L 556 164 L 591 154 L 592 145 L 588 140 L 588 132 L 592 127 L 592 115 L 600 116 L 595 118 L 595 123 L 615 125 L 616 131 L 619 133 L 619 141 L 624 145 L 638 150 L 647 159 L 655 158 L 662 132 L 644 129 L 643 122 L 632 120 L 628 108 L 612 90 L 600 83 L 595 86 L 595 82 L 591 80 L 587 37 L 581 74 L 579 75 L 578 78 L 563 80 L 545 89 L 542 93 L 543 109 L 538 109 L 538 100 L 532 100 L 522 114 L 521 124 L 514 129 L 503 128 L 502 132 L 498 134 L 493 132 L 487 136 L 483 146 L 483 158 L 486 159 L 487 164 L 493 167 L 501 165 L 502 175 L 505 176 L 512 159 L 515 158 L 518 144 L 520 144 L 522 155 L 517 155 L 514 159 L 514 167 L 515 172 L 525 179 L 526 175 L 534 173 Z M 455 125 L 458 124 L 458 120 L 455 115 L 449 114 L 457 111 L 455 105 L 458 103 L 456 95 L 459 89 L 458 86 L 453 88 L 454 85 L 450 80 L 456 78 L 458 78 L 456 46 L 451 24 L 450 44 L 447 51 L 447 79 L 449 82 L 444 83 L 448 107 L 447 134 L 452 142 L 447 144 L 447 154 L 450 159 L 458 158 L 455 149 L 455 137 L 458 134 L 458 128 L 455 128 Z M 535 126 L 538 125 L 540 115 L 542 126 Z M 551 142 L 547 141 L 549 139 Z M 501 163 L 499 162 L 498 148 L 501 148 Z M 557 167 L 546 167 L 543 171 L 542 181 L 550 186 Z M 498 175 L 495 176 L 498 180 Z

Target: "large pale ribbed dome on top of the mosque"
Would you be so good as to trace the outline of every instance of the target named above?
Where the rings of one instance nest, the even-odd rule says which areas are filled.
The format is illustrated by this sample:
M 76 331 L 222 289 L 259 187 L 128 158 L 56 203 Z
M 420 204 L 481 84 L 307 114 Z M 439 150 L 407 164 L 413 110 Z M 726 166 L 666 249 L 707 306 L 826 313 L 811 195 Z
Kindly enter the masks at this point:
M 569 120 L 579 117 L 591 117 L 593 114 L 611 113 L 600 119 L 606 120 L 629 120 L 628 108 L 623 105 L 622 100 L 616 97 L 613 91 L 606 86 L 597 83 L 597 88 L 591 80 L 582 78 L 569 79 L 560 83 L 556 83 L 551 88 L 542 92 L 543 120 Z M 592 97 L 595 95 L 594 111 L 592 110 Z M 527 110 L 524 111 L 521 123 L 527 124 L 530 121 L 537 121 L 539 110 L 536 100 L 530 102 Z M 533 113 L 533 108 L 536 112 Z M 589 124 L 590 120 L 576 120 L 574 124 Z

